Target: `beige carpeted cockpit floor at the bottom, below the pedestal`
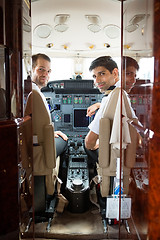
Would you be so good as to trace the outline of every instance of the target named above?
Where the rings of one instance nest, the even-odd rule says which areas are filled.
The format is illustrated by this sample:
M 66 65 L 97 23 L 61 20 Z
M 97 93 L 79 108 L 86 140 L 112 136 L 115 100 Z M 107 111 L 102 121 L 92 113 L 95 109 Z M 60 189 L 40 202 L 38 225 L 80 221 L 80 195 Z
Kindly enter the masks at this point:
M 35 239 L 119 239 L 119 225 L 108 225 L 107 232 L 104 232 L 101 215 L 96 208 L 85 213 L 70 213 L 65 210 L 63 213 L 55 213 L 52 219 L 50 231 L 46 230 L 47 222 L 34 225 Z M 33 225 L 28 232 L 23 234 L 23 239 L 33 237 Z M 120 226 L 120 239 L 134 239 L 126 231 L 125 225 Z M 33 238 L 32 238 L 33 239 Z

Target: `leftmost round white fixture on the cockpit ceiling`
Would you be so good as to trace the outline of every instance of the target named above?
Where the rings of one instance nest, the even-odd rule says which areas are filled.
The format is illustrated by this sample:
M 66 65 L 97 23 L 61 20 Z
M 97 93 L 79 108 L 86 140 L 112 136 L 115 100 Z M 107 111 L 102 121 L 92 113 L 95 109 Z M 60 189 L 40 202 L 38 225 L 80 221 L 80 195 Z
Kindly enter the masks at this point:
M 47 38 L 52 32 L 52 27 L 48 24 L 40 24 L 35 27 L 34 32 L 39 38 Z

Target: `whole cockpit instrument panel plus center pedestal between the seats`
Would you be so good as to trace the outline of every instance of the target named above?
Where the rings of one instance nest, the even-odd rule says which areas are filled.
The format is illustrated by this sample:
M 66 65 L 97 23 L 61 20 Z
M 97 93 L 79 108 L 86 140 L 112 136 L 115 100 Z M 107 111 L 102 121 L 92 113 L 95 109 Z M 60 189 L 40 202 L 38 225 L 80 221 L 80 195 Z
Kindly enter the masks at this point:
M 84 139 L 94 118 L 86 116 L 87 108 L 101 102 L 102 94 L 93 87 L 92 80 L 53 81 L 42 91 L 55 130 L 68 136 L 68 160 L 66 168 L 61 168 L 65 196 L 69 200 L 68 209 L 73 213 L 82 213 L 89 207 L 88 157 Z

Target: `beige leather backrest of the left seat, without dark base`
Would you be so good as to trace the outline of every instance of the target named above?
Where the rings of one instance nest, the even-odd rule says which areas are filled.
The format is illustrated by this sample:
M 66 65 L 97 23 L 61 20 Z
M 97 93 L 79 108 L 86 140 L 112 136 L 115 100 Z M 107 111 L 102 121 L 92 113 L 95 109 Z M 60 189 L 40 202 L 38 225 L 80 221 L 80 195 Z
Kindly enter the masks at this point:
M 59 170 L 59 160 L 56 160 L 54 125 L 44 95 L 34 89 L 27 99 L 25 115 L 28 114 L 32 115 L 33 175 L 46 176 L 47 193 L 53 194 Z

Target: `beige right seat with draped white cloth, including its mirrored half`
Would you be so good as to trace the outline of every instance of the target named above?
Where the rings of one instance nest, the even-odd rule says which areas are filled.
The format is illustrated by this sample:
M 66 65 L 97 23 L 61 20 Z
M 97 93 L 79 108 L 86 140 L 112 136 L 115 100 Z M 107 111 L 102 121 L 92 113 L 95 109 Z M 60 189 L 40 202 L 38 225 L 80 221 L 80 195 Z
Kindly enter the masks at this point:
M 129 98 L 124 90 L 115 88 L 107 97 L 107 103 L 100 119 L 98 175 L 101 176 L 100 192 L 102 197 L 113 194 L 113 177 L 116 176 L 117 158 L 122 147 L 123 194 L 128 194 L 131 168 L 135 164 L 138 134 L 128 120 L 133 118 Z M 121 101 L 122 100 L 122 101 Z M 122 107 L 122 136 L 121 126 Z M 120 141 L 121 145 L 120 145 Z

